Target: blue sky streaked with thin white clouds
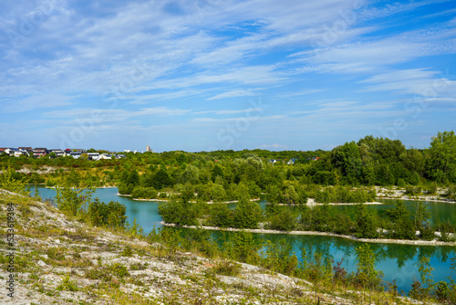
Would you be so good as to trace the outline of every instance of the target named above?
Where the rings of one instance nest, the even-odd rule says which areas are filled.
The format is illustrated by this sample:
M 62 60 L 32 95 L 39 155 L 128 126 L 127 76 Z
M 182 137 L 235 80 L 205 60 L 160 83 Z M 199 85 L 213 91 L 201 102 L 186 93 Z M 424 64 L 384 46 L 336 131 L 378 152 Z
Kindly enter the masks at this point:
M 0 146 L 428 147 L 456 124 L 456 1 L 0 3 Z

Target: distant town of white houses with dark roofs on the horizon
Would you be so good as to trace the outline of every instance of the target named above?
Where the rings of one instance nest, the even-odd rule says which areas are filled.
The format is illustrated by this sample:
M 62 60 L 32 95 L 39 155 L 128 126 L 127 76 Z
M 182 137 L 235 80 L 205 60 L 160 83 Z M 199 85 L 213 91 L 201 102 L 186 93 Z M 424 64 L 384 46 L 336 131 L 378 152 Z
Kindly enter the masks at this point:
M 146 146 L 146 152 L 155 153 L 150 149 L 150 145 Z M 138 153 L 137 151 L 130 151 L 125 150 L 124 153 Z M 144 153 L 144 152 L 142 152 Z M 86 158 L 87 160 L 91 161 L 98 161 L 98 160 L 111 160 L 111 159 L 121 159 L 125 158 L 125 155 L 122 153 L 109 153 L 107 151 L 99 150 L 96 151 L 94 149 L 70 149 L 67 148 L 66 150 L 62 149 L 47 149 L 44 147 L 17 147 L 17 148 L 0 148 L 0 154 L 7 154 L 12 157 L 33 157 L 33 158 L 41 158 L 41 157 L 49 157 L 49 158 L 58 158 L 58 157 L 72 157 L 74 159 L 79 158 Z

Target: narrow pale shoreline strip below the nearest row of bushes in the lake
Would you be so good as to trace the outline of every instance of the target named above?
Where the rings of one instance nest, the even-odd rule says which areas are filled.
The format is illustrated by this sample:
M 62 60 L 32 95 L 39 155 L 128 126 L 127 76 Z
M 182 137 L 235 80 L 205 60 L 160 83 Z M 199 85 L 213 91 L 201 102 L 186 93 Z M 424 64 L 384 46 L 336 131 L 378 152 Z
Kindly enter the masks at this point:
M 171 226 L 171 227 L 185 227 L 185 228 L 194 228 L 197 226 L 176 226 L 175 224 L 166 224 L 164 221 L 161 221 L 162 226 Z M 316 232 L 316 231 L 277 231 L 269 229 L 239 229 L 235 227 L 219 227 L 219 226 L 198 226 L 205 230 L 212 231 L 225 231 L 225 232 L 250 232 L 255 234 L 285 234 L 285 235 L 295 235 L 295 236 L 325 236 L 325 237 L 340 237 L 345 239 L 351 239 L 353 241 L 359 241 L 363 243 L 371 244 L 399 244 L 399 245 L 410 245 L 410 246 L 446 246 L 453 247 L 456 246 L 456 242 L 445 242 L 438 240 L 409 240 L 409 239 L 389 239 L 389 238 L 358 238 L 349 235 L 341 235 L 336 233 L 327 233 L 327 232 Z

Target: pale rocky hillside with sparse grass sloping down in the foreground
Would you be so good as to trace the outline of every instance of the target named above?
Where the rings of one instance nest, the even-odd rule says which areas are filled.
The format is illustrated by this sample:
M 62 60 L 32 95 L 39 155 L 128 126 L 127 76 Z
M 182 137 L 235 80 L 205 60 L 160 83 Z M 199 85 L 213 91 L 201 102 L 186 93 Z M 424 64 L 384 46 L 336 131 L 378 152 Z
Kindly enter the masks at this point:
M 10 205 L 10 204 L 13 205 Z M 398 302 L 387 294 L 322 288 L 247 264 L 180 253 L 124 231 L 87 226 L 29 197 L 0 190 L 0 276 L 9 279 L 16 248 L 14 299 L 2 304 L 352 304 Z M 8 215 L 9 213 L 14 213 Z M 15 221 L 8 220 L 14 216 Z M 9 233 L 13 233 L 9 231 Z M 12 236 L 9 236 L 12 237 Z

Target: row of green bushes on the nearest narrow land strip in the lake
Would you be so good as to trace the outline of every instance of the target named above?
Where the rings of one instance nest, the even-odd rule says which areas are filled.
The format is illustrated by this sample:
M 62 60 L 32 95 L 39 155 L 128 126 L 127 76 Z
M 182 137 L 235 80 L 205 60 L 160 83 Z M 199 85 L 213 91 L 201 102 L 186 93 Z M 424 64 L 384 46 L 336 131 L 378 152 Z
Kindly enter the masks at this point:
M 235 228 L 265 228 L 279 231 L 318 231 L 362 238 L 455 240 L 455 226 L 449 222 L 433 223 L 428 206 L 417 203 L 410 215 L 404 203 L 398 200 L 395 207 L 379 215 L 367 205 L 358 204 L 354 213 L 337 212 L 334 205 L 266 205 L 264 211 L 256 202 L 241 199 L 235 208 L 226 204 L 208 205 L 189 203 L 173 197 L 159 205 L 159 212 L 166 223 L 177 226 L 218 226 Z M 420 231 L 417 236 L 416 231 Z M 436 235 L 435 232 L 439 234 Z

